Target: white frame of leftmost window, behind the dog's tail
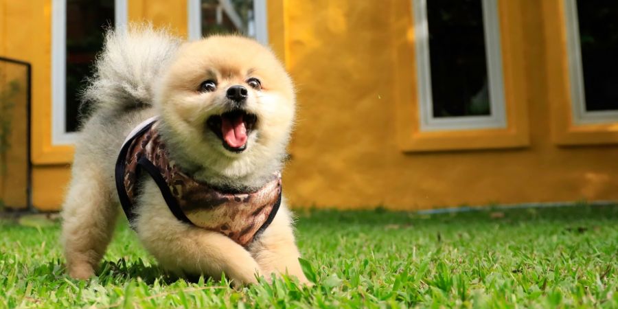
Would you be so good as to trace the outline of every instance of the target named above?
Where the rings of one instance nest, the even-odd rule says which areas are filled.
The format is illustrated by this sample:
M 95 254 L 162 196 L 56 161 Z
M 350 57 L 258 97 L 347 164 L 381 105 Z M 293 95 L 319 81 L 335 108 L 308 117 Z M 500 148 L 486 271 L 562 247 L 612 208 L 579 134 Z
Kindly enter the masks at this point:
M 126 27 L 127 0 L 114 0 L 114 26 Z M 73 144 L 77 132 L 67 132 L 67 0 L 52 1 L 52 145 Z

